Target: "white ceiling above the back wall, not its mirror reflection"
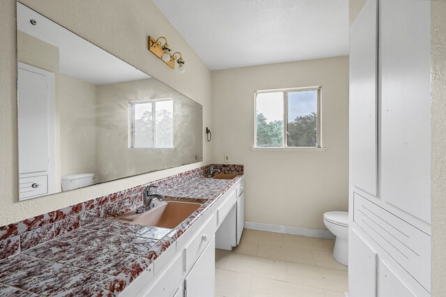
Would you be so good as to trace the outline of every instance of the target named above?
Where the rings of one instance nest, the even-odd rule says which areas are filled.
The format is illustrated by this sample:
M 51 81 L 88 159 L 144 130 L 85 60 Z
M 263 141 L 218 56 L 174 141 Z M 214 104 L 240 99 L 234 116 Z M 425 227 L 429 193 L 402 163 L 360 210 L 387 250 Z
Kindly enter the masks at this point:
M 211 70 L 348 55 L 348 0 L 153 1 Z

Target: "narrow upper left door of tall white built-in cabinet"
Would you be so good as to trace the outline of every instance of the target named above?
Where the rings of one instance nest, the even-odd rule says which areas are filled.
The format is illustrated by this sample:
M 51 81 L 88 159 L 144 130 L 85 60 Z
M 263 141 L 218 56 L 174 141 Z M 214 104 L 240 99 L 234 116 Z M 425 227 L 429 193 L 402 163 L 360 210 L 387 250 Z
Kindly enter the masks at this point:
M 351 184 L 374 196 L 378 170 L 376 18 L 376 0 L 369 0 L 350 29 Z

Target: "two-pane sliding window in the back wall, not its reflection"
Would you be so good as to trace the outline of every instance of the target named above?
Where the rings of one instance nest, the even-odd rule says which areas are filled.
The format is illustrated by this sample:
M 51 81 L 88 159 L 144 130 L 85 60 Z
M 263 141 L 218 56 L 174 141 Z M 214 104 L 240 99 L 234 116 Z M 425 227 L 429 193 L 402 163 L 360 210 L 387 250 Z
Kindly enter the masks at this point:
M 321 147 L 321 86 L 255 92 L 256 148 Z

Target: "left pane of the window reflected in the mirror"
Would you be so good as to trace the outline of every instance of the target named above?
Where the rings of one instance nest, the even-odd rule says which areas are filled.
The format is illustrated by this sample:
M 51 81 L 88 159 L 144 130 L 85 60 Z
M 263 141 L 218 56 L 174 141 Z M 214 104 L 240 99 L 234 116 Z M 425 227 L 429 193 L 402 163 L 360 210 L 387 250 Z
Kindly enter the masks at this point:
M 135 103 L 133 107 L 133 147 L 153 148 L 152 103 Z

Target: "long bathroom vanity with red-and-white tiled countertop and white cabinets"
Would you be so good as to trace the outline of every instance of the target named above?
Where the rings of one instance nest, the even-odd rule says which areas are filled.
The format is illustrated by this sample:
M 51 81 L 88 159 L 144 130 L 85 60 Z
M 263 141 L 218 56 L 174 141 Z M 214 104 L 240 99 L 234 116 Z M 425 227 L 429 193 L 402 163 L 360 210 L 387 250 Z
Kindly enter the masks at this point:
M 176 226 L 137 220 L 153 214 L 134 213 L 144 184 L 0 227 L 0 293 L 213 296 L 215 243 L 240 236 L 243 222 L 215 233 L 244 188 L 243 165 L 213 166 L 232 178 L 208 178 L 206 165 L 151 183 L 166 198 L 153 211 L 194 206 Z

